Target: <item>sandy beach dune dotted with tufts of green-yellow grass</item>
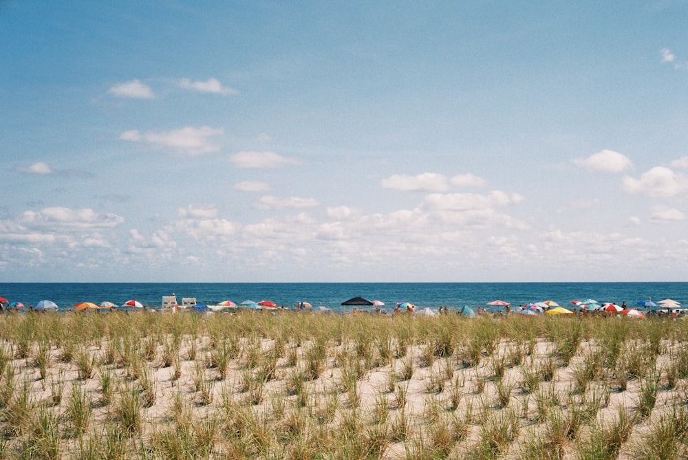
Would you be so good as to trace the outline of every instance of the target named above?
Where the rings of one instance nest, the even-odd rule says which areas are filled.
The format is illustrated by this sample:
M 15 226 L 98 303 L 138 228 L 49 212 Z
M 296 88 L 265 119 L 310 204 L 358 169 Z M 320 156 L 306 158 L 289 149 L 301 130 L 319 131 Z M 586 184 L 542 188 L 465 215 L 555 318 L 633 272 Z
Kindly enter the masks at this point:
M 0 332 L 3 458 L 686 452 L 682 320 L 32 313 Z

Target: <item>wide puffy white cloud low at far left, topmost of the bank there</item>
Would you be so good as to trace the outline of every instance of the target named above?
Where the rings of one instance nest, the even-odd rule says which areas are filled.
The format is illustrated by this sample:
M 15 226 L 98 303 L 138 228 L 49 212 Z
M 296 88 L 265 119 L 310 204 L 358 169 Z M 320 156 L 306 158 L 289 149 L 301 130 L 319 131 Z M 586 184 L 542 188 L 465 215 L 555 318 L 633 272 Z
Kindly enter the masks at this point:
M 92 209 L 44 208 L 39 212 L 25 211 L 19 223 L 27 228 L 53 231 L 80 231 L 114 228 L 124 222 L 124 217 L 113 213 L 99 214 Z

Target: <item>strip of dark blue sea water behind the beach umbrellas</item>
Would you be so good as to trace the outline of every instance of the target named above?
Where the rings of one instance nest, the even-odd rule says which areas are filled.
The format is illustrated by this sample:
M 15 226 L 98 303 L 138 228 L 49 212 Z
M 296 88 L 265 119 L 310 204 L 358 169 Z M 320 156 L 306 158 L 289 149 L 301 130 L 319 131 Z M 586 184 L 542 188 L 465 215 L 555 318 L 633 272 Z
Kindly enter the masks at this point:
M 410 302 L 418 307 L 460 308 L 485 306 L 500 299 L 517 306 L 554 300 L 572 307 L 571 300 L 594 298 L 599 302 L 636 305 L 638 300 L 671 298 L 688 305 L 688 283 L 0 283 L 0 297 L 10 302 L 35 305 L 52 300 L 61 310 L 79 302 L 105 300 L 122 305 L 136 299 L 151 308 L 160 307 L 162 296 L 175 293 L 195 297 L 198 303 L 215 305 L 223 300 L 272 300 L 294 308 L 303 301 L 322 303 L 334 311 L 347 311 L 341 303 L 354 296 L 381 300 L 385 308 Z

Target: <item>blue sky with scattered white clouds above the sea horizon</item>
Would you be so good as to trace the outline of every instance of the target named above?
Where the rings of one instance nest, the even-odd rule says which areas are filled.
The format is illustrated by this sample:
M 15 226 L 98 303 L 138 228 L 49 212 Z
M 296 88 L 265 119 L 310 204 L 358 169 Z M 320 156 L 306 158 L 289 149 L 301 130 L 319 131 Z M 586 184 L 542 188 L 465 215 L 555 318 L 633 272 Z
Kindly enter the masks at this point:
M 0 280 L 688 281 L 687 21 L 0 1 Z

